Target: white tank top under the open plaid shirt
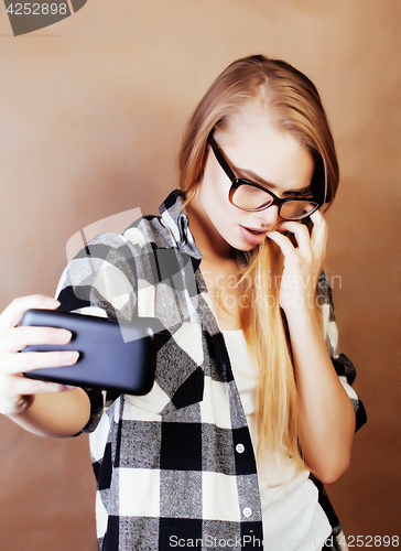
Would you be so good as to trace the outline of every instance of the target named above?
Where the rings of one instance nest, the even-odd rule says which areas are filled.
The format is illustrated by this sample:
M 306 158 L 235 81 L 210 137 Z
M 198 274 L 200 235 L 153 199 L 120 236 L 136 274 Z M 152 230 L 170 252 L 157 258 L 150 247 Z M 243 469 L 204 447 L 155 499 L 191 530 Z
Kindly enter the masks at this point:
M 254 430 L 256 368 L 242 329 L 223 331 L 234 377 L 241 398 L 253 449 L 258 439 Z M 257 461 L 260 499 L 263 516 L 263 542 L 269 551 L 319 550 L 332 528 L 317 501 L 317 488 L 308 479 L 310 472 L 295 474 L 289 457 L 281 471 L 269 456 Z

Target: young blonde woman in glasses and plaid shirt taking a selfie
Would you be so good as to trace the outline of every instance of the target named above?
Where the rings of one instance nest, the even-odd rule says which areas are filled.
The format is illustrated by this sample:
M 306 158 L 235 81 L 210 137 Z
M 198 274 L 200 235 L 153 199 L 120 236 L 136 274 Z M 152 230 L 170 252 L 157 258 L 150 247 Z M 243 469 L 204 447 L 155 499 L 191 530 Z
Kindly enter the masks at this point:
M 234 62 L 195 110 L 180 169 L 160 216 L 75 257 L 58 302 L 6 309 L 1 411 L 37 434 L 90 433 L 101 550 L 334 547 L 340 525 L 322 483 L 347 469 L 365 412 L 322 272 L 319 207 L 335 197 L 338 166 L 314 85 L 281 61 Z M 57 306 L 158 317 L 151 392 L 21 377 L 76 361 L 17 354 L 68 342 L 64 329 L 18 325 L 29 307 Z

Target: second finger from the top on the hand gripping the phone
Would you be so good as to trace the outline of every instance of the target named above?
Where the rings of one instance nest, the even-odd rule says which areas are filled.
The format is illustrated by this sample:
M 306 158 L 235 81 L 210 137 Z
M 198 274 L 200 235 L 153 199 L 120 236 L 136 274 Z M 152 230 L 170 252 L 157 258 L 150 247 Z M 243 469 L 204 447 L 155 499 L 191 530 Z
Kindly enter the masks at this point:
M 29 345 L 65 345 L 72 339 L 72 332 L 56 327 L 19 326 L 8 329 L 0 339 L 0 352 L 20 352 Z

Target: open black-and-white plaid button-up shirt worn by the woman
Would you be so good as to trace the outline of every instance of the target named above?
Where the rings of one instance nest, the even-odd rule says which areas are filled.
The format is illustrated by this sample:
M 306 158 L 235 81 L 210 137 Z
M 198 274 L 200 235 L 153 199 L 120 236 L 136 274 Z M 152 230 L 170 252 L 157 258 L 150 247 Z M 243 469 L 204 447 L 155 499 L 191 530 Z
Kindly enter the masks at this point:
M 175 191 L 123 235 L 93 239 L 67 266 L 59 310 L 131 320 L 158 317 L 155 382 L 143 397 L 87 390 L 98 482 L 99 549 L 262 549 L 256 458 L 223 334 L 212 311 L 201 251 Z M 355 407 L 355 369 L 340 354 L 327 280 L 327 346 Z M 238 446 L 238 444 L 242 444 Z M 315 482 L 318 485 L 318 482 Z M 324 488 L 321 504 L 340 525 Z

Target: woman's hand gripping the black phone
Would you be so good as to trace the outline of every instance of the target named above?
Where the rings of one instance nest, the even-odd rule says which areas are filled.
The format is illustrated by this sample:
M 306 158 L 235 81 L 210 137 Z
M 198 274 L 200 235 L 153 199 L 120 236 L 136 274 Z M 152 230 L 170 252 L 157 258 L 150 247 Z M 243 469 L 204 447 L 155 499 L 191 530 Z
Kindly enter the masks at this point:
M 72 333 L 54 327 L 20 326 L 30 309 L 54 310 L 59 302 L 43 295 L 15 299 L 0 315 L 0 413 L 15 415 L 26 410 L 34 395 L 63 392 L 71 387 L 23 377 L 24 371 L 43 367 L 69 366 L 76 363 L 76 352 L 28 352 L 25 346 L 36 344 L 67 344 Z

